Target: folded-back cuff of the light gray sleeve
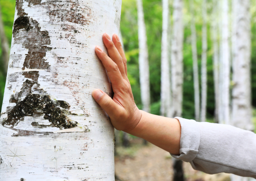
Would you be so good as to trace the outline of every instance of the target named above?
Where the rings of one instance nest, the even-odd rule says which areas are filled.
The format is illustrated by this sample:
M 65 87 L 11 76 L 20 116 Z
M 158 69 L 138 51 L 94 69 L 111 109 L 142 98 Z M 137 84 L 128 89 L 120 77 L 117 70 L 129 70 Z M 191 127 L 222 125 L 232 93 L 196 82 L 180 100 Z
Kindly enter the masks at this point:
M 172 155 L 176 159 L 191 162 L 196 158 L 200 145 L 200 128 L 195 120 L 175 117 L 180 121 L 180 155 Z

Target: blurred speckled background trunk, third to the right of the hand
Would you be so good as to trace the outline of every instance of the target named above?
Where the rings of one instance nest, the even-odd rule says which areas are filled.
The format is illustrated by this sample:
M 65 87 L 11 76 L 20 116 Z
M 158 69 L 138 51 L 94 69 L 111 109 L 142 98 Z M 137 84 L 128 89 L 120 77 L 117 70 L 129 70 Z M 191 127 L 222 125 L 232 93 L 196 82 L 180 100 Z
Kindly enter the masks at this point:
M 183 97 L 183 38 L 182 0 L 173 2 L 173 32 L 171 47 L 171 83 L 173 117 L 182 115 Z

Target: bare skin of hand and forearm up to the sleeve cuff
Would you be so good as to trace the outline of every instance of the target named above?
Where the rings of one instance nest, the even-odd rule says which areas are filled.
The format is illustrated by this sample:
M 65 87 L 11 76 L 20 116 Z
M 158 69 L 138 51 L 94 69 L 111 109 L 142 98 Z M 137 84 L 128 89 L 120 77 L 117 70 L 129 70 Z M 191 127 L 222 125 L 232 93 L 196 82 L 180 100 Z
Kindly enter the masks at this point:
M 104 91 L 96 89 L 92 92 L 94 99 L 108 113 L 116 129 L 146 139 L 174 155 L 180 155 L 179 121 L 138 109 L 127 77 L 127 61 L 118 35 L 114 34 L 111 40 L 105 33 L 103 42 L 109 56 L 99 46 L 96 46 L 95 52 L 108 72 L 114 97 L 112 99 Z

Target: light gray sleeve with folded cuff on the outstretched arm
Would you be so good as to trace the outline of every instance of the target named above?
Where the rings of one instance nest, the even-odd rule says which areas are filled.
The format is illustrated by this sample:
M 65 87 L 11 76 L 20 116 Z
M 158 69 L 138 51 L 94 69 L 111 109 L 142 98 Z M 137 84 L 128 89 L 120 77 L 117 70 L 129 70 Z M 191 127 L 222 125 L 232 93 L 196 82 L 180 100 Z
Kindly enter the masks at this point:
M 231 125 L 176 117 L 181 125 L 180 155 L 196 170 L 256 178 L 256 134 Z

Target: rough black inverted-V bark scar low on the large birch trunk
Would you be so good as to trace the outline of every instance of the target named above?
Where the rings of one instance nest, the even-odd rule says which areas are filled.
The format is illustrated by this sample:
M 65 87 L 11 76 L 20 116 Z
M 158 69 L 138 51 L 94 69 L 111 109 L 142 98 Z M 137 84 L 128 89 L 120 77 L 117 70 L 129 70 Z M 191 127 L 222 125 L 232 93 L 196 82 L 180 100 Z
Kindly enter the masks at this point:
M 22 86 L 21 91 L 18 93 L 18 95 L 12 95 L 10 98 L 10 102 L 16 103 L 12 109 L 8 110 L 8 116 L 6 119 L 2 121 L 2 125 L 8 125 L 12 128 L 14 125 L 18 125 L 20 121 L 22 121 L 22 118 L 25 116 L 36 116 L 36 115 L 43 115 L 44 119 L 48 119 L 51 123 L 50 126 L 52 127 L 59 127 L 59 128 L 72 128 L 77 126 L 76 121 L 72 121 L 68 119 L 66 115 L 71 115 L 72 113 L 68 111 L 70 108 L 70 105 L 66 101 L 53 101 L 50 99 L 49 95 L 46 94 L 43 90 L 38 89 L 39 91 L 42 91 L 41 94 L 33 94 L 32 93 L 32 87 L 39 87 L 40 85 L 37 83 L 38 79 L 38 72 L 32 71 L 32 75 L 29 75 L 30 78 L 33 81 L 26 80 Z M 19 100 L 20 97 L 25 96 L 26 97 L 23 100 Z M 36 127 L 42 127 L 42 125 L 37 125 L 36 122 L 32 122 L 33 126 Z

